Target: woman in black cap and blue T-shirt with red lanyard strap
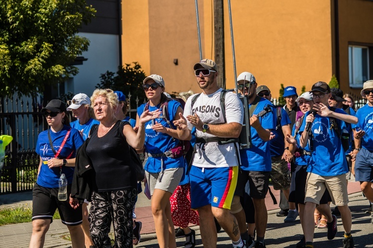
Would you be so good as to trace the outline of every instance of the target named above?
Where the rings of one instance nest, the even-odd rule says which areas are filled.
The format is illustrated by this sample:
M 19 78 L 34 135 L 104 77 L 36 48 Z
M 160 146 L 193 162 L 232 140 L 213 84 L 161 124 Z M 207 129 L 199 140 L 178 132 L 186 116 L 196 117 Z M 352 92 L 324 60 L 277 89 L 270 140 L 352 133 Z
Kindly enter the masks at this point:
M 67 226 L 74 248 L 84 248 L 82 208 L 72 208 L 69 201 L 58 200 L 58 180 L 65 174 L 68 195 L 74 174 L 77 149 L 83 144 L 79 131 L 69 126 L 66 106 L 60 100 L 51 100 L 41 112 L 49 129 L 39 134 L 36 153 L 40 156 L 38 177 L 32 191 L 32 235 L 30 247 L 43 247 L 45 234 L 58 209 L 61 221 Z

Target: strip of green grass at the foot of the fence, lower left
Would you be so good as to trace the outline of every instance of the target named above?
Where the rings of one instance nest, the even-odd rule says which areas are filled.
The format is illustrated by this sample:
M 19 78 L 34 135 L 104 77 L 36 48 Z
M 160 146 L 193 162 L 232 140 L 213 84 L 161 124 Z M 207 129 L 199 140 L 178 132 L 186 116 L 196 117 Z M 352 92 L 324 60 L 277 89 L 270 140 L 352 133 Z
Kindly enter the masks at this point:
M 32 209 L 29 205 L 0 210 L 0 226 L 31 222 L 31 218 Z M 54 213 L 53 219 L 61 219 L 58 211 Z

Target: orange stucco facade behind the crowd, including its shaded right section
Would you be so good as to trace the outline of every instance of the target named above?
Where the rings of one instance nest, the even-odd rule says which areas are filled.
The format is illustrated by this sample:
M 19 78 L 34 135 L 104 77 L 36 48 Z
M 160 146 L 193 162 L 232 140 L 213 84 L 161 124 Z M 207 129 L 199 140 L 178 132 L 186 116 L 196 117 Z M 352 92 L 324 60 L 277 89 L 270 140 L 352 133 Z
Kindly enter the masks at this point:
M 251 72 L 259 85 L 270 87 L 274 97 L 279 96 L 281 83 L 296 86 L 300 92 L 303 85 L 308 90 L 317 81 L 330 81 L 336 72 L 334 0 L 231 4 L 237 75 Z M 202 57 L 214 59 L 213 1 L 199 0 L 198 10 Z M 362 19 L 373 23 L 373 2 L 340 0 L 338 13 L 340 84 L 349 92 L 353 90 L 348 85 L 348 44 L 373 43 L 373 33 L 366 31 L 368 24 L 361 25 Z M 123 63 L 137 61 L 147 75 L 161 75 L 170 93 L 200 92 L 192 70 L 199 61 L 194 1 L 122 0 L 122 27 Z M 233 88 L 227 1 L 224 32 L 226 87 Z

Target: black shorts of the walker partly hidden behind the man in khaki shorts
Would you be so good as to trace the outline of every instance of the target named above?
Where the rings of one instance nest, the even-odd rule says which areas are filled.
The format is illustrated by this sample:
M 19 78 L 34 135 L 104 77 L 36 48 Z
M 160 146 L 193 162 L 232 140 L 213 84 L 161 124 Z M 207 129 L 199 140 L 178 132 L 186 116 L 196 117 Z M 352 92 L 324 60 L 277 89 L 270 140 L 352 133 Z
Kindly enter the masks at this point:
M 289 202 L 304 204 L 307 181 L 307 165 L 297 165 L 291 177 Z M 329 191 L 325 190 L 320 199 L 320 204 L 332 201 Z

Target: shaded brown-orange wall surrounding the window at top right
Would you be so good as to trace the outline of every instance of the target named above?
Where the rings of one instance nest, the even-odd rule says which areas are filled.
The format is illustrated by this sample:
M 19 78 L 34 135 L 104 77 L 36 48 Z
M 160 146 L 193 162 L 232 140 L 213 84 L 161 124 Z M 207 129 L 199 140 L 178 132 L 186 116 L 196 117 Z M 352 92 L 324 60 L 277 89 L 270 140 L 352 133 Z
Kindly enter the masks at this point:
M 340 87 L 348 93 L 360 95 L 361 89 L 349 86 L 349 42 L 373 44 L 373 2 L 367 0 L 343 0 L 339 4 L 339 51 L 340 51 Z M 367 31 L 369 30 L 369 31 Z M 370 54 L 373 56 L 373 54 Z M 371 65 L 372 67 L 373 65 Z M 370 75 L 371 79 L 373 75 Z

